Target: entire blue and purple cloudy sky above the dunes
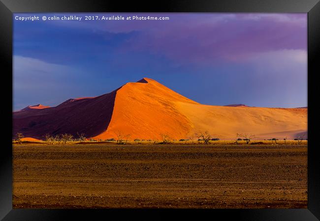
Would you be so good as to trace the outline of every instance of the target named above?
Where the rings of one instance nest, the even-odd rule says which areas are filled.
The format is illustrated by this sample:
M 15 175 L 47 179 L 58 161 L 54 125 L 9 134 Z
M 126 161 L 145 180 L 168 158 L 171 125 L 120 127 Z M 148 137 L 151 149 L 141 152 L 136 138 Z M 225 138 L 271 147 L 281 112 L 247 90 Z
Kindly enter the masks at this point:
M 307 106 L 307 13 L 14 13 L 13 24 L 14 111 L 144 77 L 206 105 Z

